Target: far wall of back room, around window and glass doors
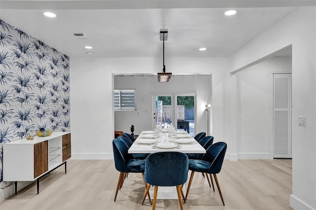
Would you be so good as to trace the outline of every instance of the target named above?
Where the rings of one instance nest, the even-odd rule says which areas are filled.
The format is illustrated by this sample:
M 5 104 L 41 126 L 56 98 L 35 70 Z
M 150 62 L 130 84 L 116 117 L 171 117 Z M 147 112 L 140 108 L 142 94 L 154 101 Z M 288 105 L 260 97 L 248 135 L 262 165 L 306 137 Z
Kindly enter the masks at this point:
M 207 131 L 207 112 L 205 104 L 210 101 L 211 75 L 173 75 L 169 82 L 159 83 L 157 75 L 115 76 L 116 89 L 136 88 L 136 111 L 115 111 L 115 130 L 130 133 L 130 126 L 134 125 L 135 135 L 142 130 L 153 129 L 153 93 L 197 95 L 197 133 Z M 156 101 L 155 101 L 156 102 Z M 171 119 L 172 121 L 174 119 Z

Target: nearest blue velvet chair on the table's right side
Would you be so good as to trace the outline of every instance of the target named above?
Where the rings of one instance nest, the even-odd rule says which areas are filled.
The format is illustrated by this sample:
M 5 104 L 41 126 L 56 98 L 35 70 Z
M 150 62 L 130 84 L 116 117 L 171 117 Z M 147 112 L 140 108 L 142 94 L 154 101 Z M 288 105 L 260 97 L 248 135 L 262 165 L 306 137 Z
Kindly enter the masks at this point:
M 189 160 L 189 170 L 192 171 L 192 173 L 190 176 L 190 181 L 189 181 L 186 197 L 184 199 L 185 203 L 188 198 L 188 194 L 190 191 L 194 173 L 201 172 L 201 173 L 209 174 L 210 176 L 211 175 L 214 176 L 217 189 L 221 196 L 223 205 L 225 206 L 221 188 L 218 183 L 217 174 L 220 173 L 222 169 L 226 148 L 227 148 L 227 144 L 225 142 L 216 142 L 210 145 L 206 149 L 206 153 L 203 155 L 203 157 L 200 160 Z

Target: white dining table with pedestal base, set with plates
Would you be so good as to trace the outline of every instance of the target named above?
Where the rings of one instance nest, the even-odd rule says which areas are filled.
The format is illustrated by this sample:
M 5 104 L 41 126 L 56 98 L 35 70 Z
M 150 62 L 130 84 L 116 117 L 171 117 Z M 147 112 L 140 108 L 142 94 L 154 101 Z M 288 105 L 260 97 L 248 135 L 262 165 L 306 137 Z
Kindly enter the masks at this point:
M 179 145 L 180 148 L 159 148 L 153 147 L 155 146 L 155 140 L 151 136 L 151 131 L 142 131 L 141 134 L 137 137 L 131 147 L 128 149 L 128 153 L 137 154 L 137 153 L 155 153 L 155 152 L 163 152 L 163 151 L 177 151 L 183 153 L 206 153 L 206 150 L 187 132 L 183 132 L 181 134 L 177 134 L 177 139 L 175 140 L 175 144 Z M 191 142 L 189 142 L 191 141 Z M 188 143 L 189 142 L 189 143 Z M 185 191 L 185 185 L 182 187 Z M 150 188 L 150 195 L 154 196 L 154 188 Z M 178 194 L 176 187 L 158 187 L 157 199 L 178 199 Z

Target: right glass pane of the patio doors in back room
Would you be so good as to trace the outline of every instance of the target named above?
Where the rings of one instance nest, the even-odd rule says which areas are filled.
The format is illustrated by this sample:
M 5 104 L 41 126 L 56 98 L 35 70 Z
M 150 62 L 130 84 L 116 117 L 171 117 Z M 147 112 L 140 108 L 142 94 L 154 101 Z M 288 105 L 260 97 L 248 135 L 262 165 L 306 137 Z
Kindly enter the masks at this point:
M 177 130 L 194 136 L 194 96 L 177 96 Z

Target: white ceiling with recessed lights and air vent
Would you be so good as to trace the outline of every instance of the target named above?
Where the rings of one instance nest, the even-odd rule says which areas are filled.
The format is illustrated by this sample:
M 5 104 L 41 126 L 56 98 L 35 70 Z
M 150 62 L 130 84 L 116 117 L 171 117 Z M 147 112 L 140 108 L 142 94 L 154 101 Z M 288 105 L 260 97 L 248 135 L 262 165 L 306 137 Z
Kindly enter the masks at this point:
M 316 0 L 0 0 L 0 19 L 70 58 L 162 57 L 162 29 L 166 57 L 227 57 L 304 5 Z

